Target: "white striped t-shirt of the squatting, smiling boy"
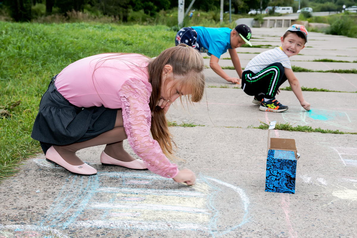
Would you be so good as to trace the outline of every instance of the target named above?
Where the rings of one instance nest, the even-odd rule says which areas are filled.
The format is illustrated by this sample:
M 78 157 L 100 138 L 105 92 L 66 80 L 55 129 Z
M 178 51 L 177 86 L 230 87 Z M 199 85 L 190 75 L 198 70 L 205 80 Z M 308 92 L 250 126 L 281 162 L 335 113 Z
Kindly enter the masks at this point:
M 274 49 L 261 52 L 259 55 L 255 56 L 251 59 L 251 61 L 249 61 L 244 71 L 250 70 L 256 74 L 265 67 L 276 62 L 281 63 L 283 67 L 287 69 L 291 69 L 289 57 L 284 53 L 281 47 L 276 47 Z

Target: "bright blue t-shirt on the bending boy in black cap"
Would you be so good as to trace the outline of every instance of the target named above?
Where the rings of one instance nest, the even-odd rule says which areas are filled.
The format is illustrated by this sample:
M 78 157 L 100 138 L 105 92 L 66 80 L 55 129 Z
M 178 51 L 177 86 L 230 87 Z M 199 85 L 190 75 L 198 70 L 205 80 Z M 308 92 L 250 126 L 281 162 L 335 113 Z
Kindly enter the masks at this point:
M 228 27 L 192 26 L 192 28 L 197 32 L 197 42 L 201 52 L 214 55 L 219 59 L 228 49 L 232 49 L 232 30 Z

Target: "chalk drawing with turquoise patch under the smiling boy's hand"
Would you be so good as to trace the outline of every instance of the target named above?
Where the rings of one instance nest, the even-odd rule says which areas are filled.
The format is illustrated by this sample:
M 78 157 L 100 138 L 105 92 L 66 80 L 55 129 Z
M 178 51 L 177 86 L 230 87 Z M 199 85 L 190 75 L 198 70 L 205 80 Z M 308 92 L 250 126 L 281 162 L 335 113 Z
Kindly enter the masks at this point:
M 323 109 L 311 109 L 305 111 L 301 108 L 301 111 L 287 111 L 282 113 L 282 117 L 286 122 L 298 123 L 299 125 L 309 125 L 312 122 L 322 122 L 328 125 L 340 127 L 343 129 L 352 130 L 352 128 L 346 126 L 351 123 L 350 117 L 346 112 L 323 110 Z

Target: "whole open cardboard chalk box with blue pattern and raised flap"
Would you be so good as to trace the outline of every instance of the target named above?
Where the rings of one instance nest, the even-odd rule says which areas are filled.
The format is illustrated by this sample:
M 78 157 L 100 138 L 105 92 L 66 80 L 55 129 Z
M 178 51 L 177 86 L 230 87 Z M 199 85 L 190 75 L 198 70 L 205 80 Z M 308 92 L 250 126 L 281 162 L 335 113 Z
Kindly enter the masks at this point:
M 300 158 L 294 139 L 271 138 L 268 130 L 267 165 L 265 191 L 277 193 L 295 193 L 296 164 Z

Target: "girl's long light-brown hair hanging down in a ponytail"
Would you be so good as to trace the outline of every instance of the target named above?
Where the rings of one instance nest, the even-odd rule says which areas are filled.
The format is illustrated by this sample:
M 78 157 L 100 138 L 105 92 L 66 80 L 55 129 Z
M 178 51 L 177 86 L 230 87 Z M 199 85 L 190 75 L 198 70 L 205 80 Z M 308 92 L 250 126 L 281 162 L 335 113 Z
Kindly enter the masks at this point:
M 151 135 L 154 140 L 159 142 L 162 152 L 170 159 L 173 159 L 175 156 L 172 144 L 175 145 L 175 142 L 172 140 L 164 110 L 156 106 L 156 103 L 160 100 L 162 75 L 165 65 L 172 66 L 172 73 L 174 77 L 177 76 L 175 84 L 188 85 L 191 88 L 192 94 L 187 97 L 189 102 L 199 102 L 202 100 L 205 91 L 205 75 L 203 74 L 205 65 L 201 54 L 196 49 L 185 44 L 180 44 L 162 51 L 147 66 L 149 82 L 152 86 L 149 103 L 152 112 Z

